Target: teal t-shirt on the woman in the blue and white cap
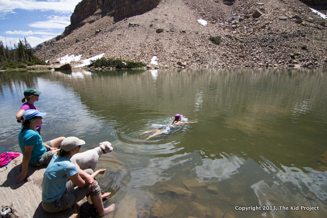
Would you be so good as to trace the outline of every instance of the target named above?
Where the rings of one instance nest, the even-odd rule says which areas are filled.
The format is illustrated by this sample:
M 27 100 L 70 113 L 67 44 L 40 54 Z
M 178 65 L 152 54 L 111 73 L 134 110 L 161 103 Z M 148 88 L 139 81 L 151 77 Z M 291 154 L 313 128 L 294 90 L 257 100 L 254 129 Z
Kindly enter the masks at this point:
M 29 163 L 34 163 L 40 159 L 46 151 L 48 151 L 43 146 L 42 137 L 36 131 L 36 129 L 24 129 L 24 127 L 21 127 L 18 135 L 18 144 L 22 154 L 25 152 L 25 146 L 34 146 Z

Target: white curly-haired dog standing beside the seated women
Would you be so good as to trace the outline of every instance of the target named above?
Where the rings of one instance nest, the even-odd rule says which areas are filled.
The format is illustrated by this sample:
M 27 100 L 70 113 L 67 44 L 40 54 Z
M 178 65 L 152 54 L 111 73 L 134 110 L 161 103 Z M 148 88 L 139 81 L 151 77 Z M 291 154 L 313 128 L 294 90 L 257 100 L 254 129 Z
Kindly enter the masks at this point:
M 77 164 L 81 169 L 91 168 L 95 171 L 99 157 L 102 154 L 112 151 L 113 148 L 111 147 L 111 143 L 109 141 L 103 141 L 100 143 L 100 146 L 95 149 L 73 155 L 71 161 Z

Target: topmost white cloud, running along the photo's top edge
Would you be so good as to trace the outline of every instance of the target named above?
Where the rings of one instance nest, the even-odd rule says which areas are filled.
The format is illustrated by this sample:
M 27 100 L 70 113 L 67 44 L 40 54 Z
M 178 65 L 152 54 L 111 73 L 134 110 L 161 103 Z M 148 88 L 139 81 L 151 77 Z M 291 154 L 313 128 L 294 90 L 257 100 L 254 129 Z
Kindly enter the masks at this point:
M 39 2 L 35 0 L 0 0 L 0 13 L 7 14 L 16 9 L 72 13 L 79 2 L 81 2 L 81 0 L 53 0 Z

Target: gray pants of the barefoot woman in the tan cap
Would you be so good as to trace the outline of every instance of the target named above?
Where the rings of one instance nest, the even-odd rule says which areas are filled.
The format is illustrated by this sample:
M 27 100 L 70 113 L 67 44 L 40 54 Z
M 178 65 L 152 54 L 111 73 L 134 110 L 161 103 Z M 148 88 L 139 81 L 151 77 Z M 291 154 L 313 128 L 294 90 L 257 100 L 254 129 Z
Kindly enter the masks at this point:
M 86 173 L 93 174 L 92 169 L 85 169 Z M 69 180 L 66 184 L 66 191 L 57 201 L 45 203 L 42 202 L 42 207 L 46 212 L 56 213 L 73 207 L 77 202 L 82 200 L 85 196 L 96 196 L 101 193 L 100 186 L 96 182 L 96 187 L 93 189 L 91 185 L 86 185 L 83 188 L 77 187 Z

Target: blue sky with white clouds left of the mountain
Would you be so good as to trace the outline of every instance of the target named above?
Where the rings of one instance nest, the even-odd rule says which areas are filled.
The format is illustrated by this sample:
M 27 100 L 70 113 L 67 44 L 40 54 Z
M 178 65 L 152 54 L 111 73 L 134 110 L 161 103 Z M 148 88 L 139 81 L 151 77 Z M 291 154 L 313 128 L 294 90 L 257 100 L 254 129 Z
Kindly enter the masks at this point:
M 0 0 L 0 41 L 17 45 L 26 37 L 32 47 L 60 35 L 71 24 L 82 0 Z

